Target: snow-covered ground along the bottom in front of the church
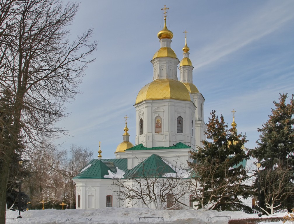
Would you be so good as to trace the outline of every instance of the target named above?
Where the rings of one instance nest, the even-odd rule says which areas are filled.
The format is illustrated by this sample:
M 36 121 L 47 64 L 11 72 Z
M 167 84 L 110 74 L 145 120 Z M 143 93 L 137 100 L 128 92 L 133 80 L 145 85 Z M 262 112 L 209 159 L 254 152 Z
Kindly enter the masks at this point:
M 286 213 L 275 214 L 283 216 Z M 95 210 L 29 210 L 21 213 L 22 219 L 18 222 L 9 218 L 16 218 L 18 212 L 6 211 L 6 223 L 24 223 L 24 224 L 55 224 L 55 223 L 111 223 L 111 224 L 140 224 L 140 223 L 159 223 L 159 224 L 226 224 L 228 216 L 231 219 L 254 217 L 257 214 L 247 214 L 244 212 L 217 212 L 204 210 L 154 210 L 150 208 L 101 208 Z M 209 217 L 214 216 L 209 220 Z M 216 217 L 225 216 L 225 217 Z M 144 219 L 145 217 L 145 219 Z M 154 218 L 146 218 L 154 217 Z M 163 217 L 163 219 L 161 218 Z M 265 216 L 263 216 L 265 217 Z M 73 218 L 67 220 L 67 218 Z M 86 218 L 92 218 L 87 220 Z M 141 219 L 141 220 L 140 220 Z M 267 223 L 269 224 L 269 223 Z M 275 222 L 270 224 L 282 224 Z

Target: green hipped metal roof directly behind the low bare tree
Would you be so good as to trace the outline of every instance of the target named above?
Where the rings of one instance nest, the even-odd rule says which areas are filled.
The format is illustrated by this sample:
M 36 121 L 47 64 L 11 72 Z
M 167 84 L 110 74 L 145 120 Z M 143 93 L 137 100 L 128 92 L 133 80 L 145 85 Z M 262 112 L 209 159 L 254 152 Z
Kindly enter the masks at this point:
M 176 171 L 168 166 L 160 156 L 152 154 L 123 176 L 124 178 L 154 178 L 162 177 L 165 173 L 176 173 Z

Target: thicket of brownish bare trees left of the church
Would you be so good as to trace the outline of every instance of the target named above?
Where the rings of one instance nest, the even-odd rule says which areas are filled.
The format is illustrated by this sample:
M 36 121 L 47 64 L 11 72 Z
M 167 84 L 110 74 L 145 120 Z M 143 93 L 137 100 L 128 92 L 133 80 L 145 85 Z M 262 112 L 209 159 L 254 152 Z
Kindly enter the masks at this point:
M 75 185 L 72 178 L 86 165 L 93 152 L 81 146 L 72 145 L 70 155 L 66 150 L 57 151 L 54 146 L 44 142 L 42 149 L 36 150 L 30 161 L 31 175 L 24 183 L 32 206 L 44 200 L 52 207 L 61 201 L 75 205 Z

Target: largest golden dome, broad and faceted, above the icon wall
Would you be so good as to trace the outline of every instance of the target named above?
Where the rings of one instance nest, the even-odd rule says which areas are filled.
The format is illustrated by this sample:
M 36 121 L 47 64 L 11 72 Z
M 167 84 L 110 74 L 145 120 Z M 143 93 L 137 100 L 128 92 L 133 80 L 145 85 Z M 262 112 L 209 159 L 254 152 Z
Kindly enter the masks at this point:
M 141 88 L 136 98 L 136 103 L 144 100 L 175 99 L 192 101 L 193 98 L 186 86 L 174 79 L 156 79 Z

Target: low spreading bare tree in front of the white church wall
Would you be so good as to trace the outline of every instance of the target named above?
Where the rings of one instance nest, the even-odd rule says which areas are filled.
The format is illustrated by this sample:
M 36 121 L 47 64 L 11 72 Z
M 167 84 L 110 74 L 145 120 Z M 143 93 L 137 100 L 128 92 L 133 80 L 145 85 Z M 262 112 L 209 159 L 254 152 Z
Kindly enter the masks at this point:
M 115 195 L 118 200 L 122 201 L 128 207 L 135 204 L 144 204 L 146 207 L 153 205 L 156 209 L 173 209 L 174 206 L 184 203 L 184 197 L 190 192 L 191 181 L 188 178 L 189 173 L 183 166 L 173 167 L 176 172 L 167 172 L 166 166 L 159 166 L 156 170 L 149 170 L 144 165 L 141 174 L 133 173 L 125 178 L 115 179 Z M 136 170 L 136 167 L 133 168 Z M 172 170 L 172 168 L 171 168 Z M 167 203 L 169 205 L 167 205 Z

